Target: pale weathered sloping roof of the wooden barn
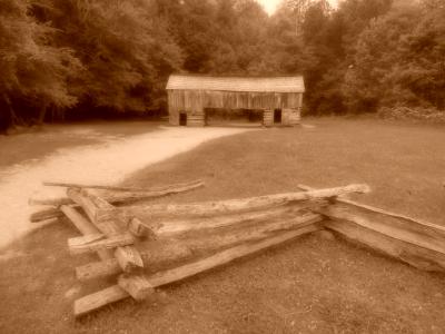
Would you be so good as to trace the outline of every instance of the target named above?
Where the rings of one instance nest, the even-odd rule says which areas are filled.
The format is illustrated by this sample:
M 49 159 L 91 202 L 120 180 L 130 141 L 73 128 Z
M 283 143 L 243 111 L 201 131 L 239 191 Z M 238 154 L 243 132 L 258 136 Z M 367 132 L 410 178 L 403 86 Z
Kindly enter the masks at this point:
M 301 76 L 295 77 L 210 77 L 196 75 L 171 75 L 168 90 L 219 90 L 255 92 L 304 92 Z

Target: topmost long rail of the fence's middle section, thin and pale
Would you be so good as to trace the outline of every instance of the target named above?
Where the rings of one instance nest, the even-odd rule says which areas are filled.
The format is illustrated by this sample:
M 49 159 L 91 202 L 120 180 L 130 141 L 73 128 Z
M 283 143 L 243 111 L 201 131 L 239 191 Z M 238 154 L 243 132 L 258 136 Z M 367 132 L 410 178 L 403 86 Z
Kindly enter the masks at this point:
M 154 217 L 165 216 L 211 216 L 218 214 L 243 213 L 286 205 L 290 202 L 315 200 L 332 198 L 352 193 L 368 193 L 367 185 L 349 185 L 346 187 L 328 188 L 312 191 L 276 194 L 269 196 L 204 202 L 191 204 L 158 204 L 147 206 L 127 206 L 117 208 L 118 212 L 149 222 Z

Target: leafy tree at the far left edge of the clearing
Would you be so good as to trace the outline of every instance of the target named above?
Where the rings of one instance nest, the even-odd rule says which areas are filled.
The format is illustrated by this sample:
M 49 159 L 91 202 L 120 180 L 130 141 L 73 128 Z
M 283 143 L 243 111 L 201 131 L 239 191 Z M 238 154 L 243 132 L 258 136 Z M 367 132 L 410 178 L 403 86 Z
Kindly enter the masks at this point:
M 53 45 L 56 30 L 30 16 L 26 0 L 0 1 L 0 91 L 3 125 L 37 118 L 49 106 L 71 107 L 69 81 L 82 67 L 70 48 Z M 20 110 L 17 106 L 20 105 Z M 38 112 L 31 112 L 38 109 Z

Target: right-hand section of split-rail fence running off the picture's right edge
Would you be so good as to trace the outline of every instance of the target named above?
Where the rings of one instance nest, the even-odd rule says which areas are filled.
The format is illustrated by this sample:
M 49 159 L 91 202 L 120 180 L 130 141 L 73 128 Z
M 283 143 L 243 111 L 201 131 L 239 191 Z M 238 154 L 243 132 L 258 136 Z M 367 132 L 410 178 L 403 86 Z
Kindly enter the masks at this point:
M 313 189 L 301 186 L 305 189 Z M 398 258 L 419 269 L 445 272 L 445 228 L 403 215 L 337 198 L 319 213 L 325 227 L 347 239 Z

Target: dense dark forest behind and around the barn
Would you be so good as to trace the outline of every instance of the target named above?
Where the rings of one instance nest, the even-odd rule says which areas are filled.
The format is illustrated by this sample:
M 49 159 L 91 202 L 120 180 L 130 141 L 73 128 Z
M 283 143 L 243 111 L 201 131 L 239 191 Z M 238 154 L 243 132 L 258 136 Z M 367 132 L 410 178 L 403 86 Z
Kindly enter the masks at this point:
M 0 127 L 162 110 L 171 72 L 303 73 L 306 115 L 442 116 L 444 18 L 444 0 L 0 0 Z

